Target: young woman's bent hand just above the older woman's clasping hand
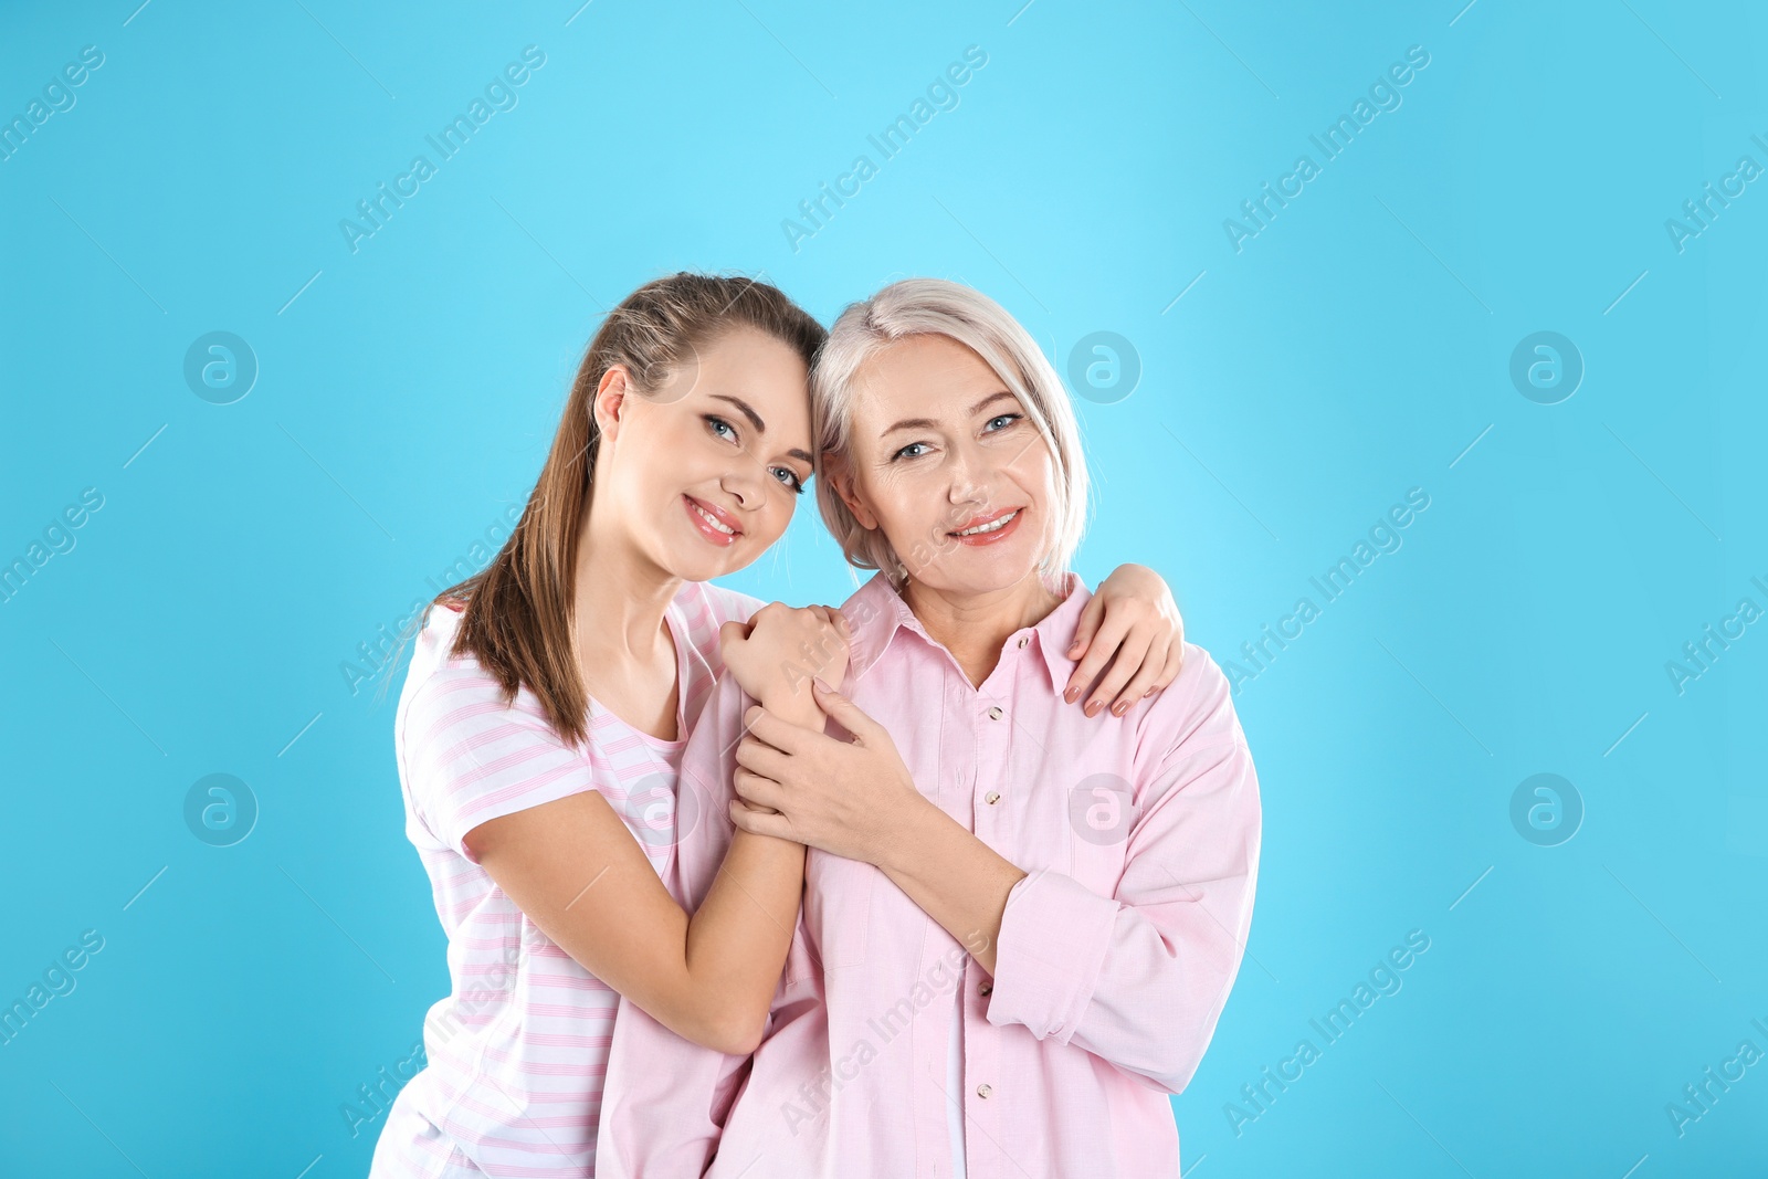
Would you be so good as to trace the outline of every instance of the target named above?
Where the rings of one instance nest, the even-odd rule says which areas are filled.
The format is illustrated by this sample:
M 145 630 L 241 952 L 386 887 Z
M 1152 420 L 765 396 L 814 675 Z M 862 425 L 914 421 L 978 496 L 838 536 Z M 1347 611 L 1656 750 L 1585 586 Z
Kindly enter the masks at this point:
M 725 622 L 718 649 L 737 684 L 796 723 L 815 712 L 810 681 L 840 684 L 847 675 L 847 615 L 833 606 L 767 603 L 744 622 Z M 792 705 L 792 707 L 787 707 Z

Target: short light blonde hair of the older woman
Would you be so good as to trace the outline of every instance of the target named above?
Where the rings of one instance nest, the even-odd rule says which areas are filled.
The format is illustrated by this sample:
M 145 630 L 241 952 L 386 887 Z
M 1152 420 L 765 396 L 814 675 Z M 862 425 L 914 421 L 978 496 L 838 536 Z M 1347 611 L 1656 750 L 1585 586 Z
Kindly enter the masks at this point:
M 1057 484 L 1050 518 L 1055 536 L 1040 560 L 1045 574 L 1068 567 L 1086 532 L 1087 465 L 1080 426 L 1055 366 L 1045 359 L 1006 308 L 988 295 L 946 279 L 912 278 L 891 283 L 863 302 L 849 304 L 829 329 L 810 377 L 810 421 L 819 449 L 817 507 L 857 569 L 880 569 L 895 583 L 907 576 L 882 530 L 866 529 L 829 486 L 829 460 L 850 460 L 852 408 L 859 369 L 884 348 L 911 336 L 944 336 L 979 355 L 994 369 L 1055 454 Z

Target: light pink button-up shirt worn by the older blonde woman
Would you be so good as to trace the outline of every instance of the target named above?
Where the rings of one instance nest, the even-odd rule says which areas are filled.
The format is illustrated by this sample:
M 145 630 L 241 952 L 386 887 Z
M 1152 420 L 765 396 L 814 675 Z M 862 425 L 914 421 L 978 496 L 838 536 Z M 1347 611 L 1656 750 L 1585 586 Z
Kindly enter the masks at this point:
M 1239 969 L 1259 785 L 1229 682 L 1199 647 L 1123 718 L 1064 704 L 1063 652 L 1091 592 L 1071 573 L 1059 589 L 979 688 L 882 574 L 842 606 L 843 691 L 928 799 L 1029 873 L 994 977 L 882 871 L 812 848 L 753 1057 L 697 1048 L 621 1000 L 601 1179 L 951 1175 L 953 1018 L 969 1179 L 1179 1174 L 1167 1094 L 1197 1069 Z M 681 788 L 702 794 L 682 806 L 700 820 L 672 880 L 690 905 L 730 840 L 746 705 L 727 677 L 682 755 Z

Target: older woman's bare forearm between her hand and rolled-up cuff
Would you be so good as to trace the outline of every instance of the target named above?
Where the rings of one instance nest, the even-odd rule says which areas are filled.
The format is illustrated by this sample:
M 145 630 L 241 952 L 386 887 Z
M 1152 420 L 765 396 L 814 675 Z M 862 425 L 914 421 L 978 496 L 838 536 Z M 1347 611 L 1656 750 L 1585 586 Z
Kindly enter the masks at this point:
M 994 974 L 1001 916 L 1024 871 L 919 795 L 888 838 L 879 868 Z

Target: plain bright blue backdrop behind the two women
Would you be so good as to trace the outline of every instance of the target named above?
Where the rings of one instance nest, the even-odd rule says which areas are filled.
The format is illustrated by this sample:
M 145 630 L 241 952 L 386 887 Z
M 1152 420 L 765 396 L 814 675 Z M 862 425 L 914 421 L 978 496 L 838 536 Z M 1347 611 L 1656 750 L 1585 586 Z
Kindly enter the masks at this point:
M 7 120 L 104 55 L 0 161 L 0 560 L 103 495 L 0 605 L 0 1000 L 104 939 L 0 1046 L 4 1174 L 366 1170 L 380 1119 L 343 1108 L 446 965 L 396 696 L 343 666 L 525 498 L 601 313 L 675 269 L 826 322 L 967 281 L 1064 373 L 1128 341 L 1133 391 L 1078 401 L 1078 567 L 1155 566 L 1188 638 L 1257 672 L 1259 898 L 1174 1099 L 1188 1175 L 1768 1165 L 1768 1064 L 1681 1133 L 1665 1110 L 1768 1052 L 1768 624 L 1681 691 L 1665 666 L 1768 608 L 1768 184 L 1680 249 L 1665 224 L 1768 164 L 1759 11 L 136 2 L 0 14 Z M 518 104 L 438 163 L 424 136 L 523 46 Z M 884 159 L 866 136 L 967 46 L 958 104 Z M 1308 136 L 1411 46 L 1400 106 L 1328 161 Z M 352 251 L 339 221 L 417 154 L 437 173 Z M 1301 154 L 1319 175 L 1236 249 L 1223 221 Z M 216 331 L 258 364 L 230 405 L 184 377 Z M 1584 366 L 1556 405 L 1510 375 L 1538 331 Z M 1402 546 L 1326 603 L 1310 578 L 1411 488 Z M 852 578 L 806 509 L 734 585 Z M 1245 659 L 1303 596 L 1301 636 Z M 216 772 L 258 810 L 232 847 L 186 824 Z M 1584 811 L 1556 847 L 1512 822 L 1538 772 Z M 1326 1045 L 1310 1020 L 1413 930 L 1402 990 Z M 1250 1105 L 1303 1038 L 1321 1059 Z

